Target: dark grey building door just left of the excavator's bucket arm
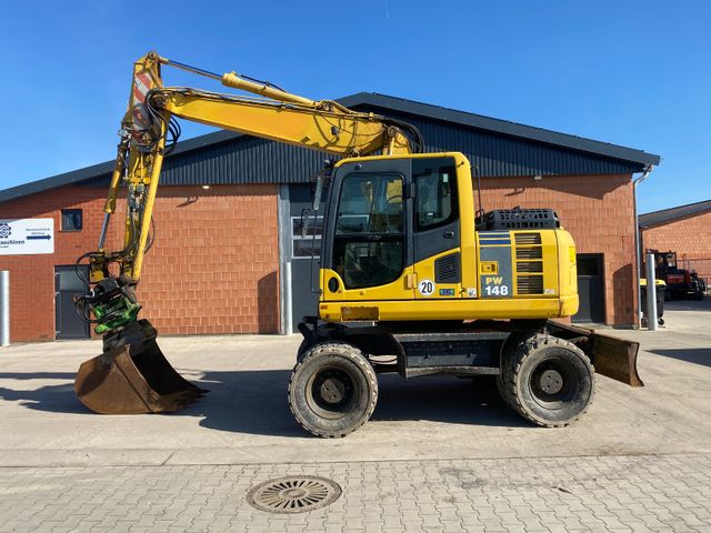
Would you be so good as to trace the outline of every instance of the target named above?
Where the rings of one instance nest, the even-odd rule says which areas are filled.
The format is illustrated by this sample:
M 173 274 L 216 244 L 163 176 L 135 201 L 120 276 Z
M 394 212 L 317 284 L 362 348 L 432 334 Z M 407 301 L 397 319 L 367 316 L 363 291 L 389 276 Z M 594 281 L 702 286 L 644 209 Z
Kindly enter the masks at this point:
M 89 266 L 79 266 L 89 279 Z M 89 323 L 81 320 L 74 308 L 74 295 L 87 294 L 87 282 L 77 275 L 76 266 L 54 266 L 54 334 L 58 340 L 89 339 Z

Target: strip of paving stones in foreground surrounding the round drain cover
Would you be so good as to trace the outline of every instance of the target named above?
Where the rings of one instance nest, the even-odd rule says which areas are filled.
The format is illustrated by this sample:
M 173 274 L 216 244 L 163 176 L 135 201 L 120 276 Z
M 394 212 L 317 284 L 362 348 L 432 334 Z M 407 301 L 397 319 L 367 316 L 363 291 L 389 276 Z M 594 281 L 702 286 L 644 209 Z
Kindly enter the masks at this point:
M 246 500 L 290 474 L 339 483 L 328 507 Z M 711 532 L 711 455 L 4 467 L 0 532 Z

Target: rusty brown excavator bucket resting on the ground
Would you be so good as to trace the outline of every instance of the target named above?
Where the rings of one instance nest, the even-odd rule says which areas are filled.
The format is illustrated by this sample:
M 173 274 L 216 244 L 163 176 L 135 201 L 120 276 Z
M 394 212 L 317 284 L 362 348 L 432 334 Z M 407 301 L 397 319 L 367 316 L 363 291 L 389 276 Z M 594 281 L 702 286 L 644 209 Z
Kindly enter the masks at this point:
M 74 380 L 79 400 L 101 414 L 177 411 L 204 391 L 170 365 L 147 320 L 104 338 L 104 351 L 79 368 Z

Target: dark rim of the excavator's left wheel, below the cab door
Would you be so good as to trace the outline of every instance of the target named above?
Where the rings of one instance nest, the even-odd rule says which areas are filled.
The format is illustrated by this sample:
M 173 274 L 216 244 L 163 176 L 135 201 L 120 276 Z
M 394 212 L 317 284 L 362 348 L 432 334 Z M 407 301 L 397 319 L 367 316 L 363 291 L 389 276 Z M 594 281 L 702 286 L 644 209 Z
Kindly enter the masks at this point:
M 307 383 L 307 403 L 327 419 L 340 419 L 358 401 L 356 379 L 343 368 L 328 366 L 311 376 Z

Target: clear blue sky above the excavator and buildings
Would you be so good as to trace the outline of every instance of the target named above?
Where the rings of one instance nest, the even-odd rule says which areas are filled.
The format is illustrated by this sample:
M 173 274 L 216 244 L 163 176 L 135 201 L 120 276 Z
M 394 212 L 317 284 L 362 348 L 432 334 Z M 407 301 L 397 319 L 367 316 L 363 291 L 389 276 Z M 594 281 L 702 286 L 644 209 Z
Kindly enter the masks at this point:
M 662 163 L 641 212 L 708 200 L 710 22 L 704 1 L 7 2 L 0 189 L 111 159 L 131 63 L 157 50 L 316 99 L 382 92 L 645 150 Z

